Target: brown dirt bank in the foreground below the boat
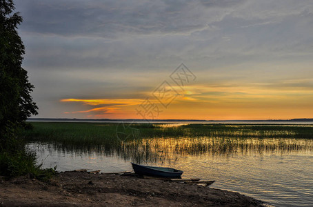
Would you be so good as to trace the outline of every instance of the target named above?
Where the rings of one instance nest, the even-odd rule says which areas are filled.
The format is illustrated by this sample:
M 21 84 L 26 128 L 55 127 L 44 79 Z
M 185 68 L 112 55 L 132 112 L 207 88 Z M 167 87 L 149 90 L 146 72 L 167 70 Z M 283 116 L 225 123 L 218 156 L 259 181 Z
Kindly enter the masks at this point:
M 261 206 L 261 202 L 207 186 L 60 172 L 50 183 L 1 178 L 0 206 Z

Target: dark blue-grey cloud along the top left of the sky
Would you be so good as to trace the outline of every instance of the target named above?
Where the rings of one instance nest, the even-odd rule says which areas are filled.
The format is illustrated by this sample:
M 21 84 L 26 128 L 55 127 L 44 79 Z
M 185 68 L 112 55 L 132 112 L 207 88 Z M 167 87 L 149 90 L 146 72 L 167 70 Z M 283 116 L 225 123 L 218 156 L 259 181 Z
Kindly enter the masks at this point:
M 188 1 L 17 1 L 23 30 L 63 36 L 117 37 L 124 33 L 189 32 L 203 28 Z M 197 20 L 196 20 L 197 19 Z

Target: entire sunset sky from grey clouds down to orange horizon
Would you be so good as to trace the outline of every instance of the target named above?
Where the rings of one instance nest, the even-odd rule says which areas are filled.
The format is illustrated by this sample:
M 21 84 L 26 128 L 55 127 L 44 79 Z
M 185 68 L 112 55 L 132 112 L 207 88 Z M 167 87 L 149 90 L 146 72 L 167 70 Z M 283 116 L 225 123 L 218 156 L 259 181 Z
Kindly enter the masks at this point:
M 14 2 L 36 117 L 313 118 L 312 0 Z

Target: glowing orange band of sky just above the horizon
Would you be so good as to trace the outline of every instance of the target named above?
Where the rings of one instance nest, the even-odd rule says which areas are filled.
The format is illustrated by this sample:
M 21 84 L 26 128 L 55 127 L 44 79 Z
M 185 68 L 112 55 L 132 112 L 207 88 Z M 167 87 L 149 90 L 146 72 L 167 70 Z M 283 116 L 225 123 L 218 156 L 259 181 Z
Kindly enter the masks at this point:
M 175 88 L 176 89 L 176 88 Z M 177 88 L 177 91 L 179 89 Z M 260 86 L 187 86 L 167 108 L 150 96 L 159 107 L 153 119 L 294 119 L 313 117 L 310 88 L 263 88 Z M 79 102 L 87 110 L 65 112 L 94 119 L 143 119 L 138 108 L 145 99 L 61 99 Z M 152 119 L 152 117 L 148 117 Z

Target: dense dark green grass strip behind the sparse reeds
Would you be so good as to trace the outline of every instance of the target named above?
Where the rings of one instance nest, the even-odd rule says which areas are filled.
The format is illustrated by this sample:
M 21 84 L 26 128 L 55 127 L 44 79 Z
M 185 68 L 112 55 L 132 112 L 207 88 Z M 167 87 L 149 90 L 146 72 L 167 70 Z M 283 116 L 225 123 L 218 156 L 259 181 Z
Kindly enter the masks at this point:
M 121 141 L 156 137 L 234 137 L 313 139 L 312 126 L 249 124 L 188 124 L 163 127 L 162 124 L 103 124 L 31 122 L 33 130 L 21 132 L 28 141 L 48 141 L 71 145 L 119 144 Z M 118 139 L 119 138 L 119 139 Z

